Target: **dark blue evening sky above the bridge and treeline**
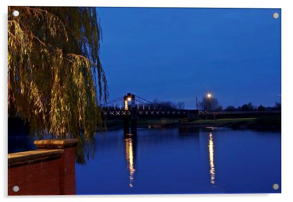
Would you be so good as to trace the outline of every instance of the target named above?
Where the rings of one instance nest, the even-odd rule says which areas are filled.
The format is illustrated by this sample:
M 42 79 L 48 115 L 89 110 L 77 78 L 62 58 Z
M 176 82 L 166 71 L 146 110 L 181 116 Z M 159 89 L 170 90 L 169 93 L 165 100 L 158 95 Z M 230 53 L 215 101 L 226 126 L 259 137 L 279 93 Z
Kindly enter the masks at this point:
M 280 9 L 97 8 L 109 100 L 127 92 L 195 108 L 274 106 L 281 94 Z

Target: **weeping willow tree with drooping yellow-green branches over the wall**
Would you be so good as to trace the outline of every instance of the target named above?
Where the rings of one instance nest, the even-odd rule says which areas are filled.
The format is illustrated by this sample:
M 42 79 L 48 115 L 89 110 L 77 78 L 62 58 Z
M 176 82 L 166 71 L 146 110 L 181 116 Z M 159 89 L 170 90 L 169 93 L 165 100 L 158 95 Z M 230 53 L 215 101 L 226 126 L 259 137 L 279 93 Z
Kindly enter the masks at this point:
M 100 40 L 95 8 L 8 6 L 8 116 L 40 137 L 92 141 L 108 97 Z

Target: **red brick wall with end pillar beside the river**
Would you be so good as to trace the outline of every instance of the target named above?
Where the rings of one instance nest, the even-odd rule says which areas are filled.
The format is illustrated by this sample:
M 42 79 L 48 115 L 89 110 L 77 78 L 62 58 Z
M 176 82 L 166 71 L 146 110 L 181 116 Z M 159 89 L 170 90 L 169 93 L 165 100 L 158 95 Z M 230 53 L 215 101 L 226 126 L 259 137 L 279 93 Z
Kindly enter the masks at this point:
M 75 147 L 67 147 L 67 142 L 63 144 L 64 146 L 44 146 L 50 149 L 9 154 L 9 160 L 18 158 L 19 162 L 18 159 L 14 159 L 11 164 L 8 161 L 8 195 L 74 195 Z M 48 152 L 53 150 L 57 150 L 59 154 L 50 157 Z M 32 153 L 35 153 L 35 159 L 30 159 L 34 158 L 30 157 L 33 156 Z M 19 187 L 17 192 L 13 191 L 16 185 Z

